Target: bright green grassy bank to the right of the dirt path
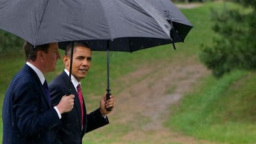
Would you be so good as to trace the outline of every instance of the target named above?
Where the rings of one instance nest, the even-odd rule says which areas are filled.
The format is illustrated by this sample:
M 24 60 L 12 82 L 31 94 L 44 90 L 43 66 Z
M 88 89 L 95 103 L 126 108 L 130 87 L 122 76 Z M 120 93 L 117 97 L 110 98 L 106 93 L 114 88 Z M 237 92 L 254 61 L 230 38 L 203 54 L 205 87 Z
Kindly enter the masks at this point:
M 184 96 L 167 125 L 200 139 L 254 143 L 255 72 L 236 71 L 217 80 L 207 77 Z

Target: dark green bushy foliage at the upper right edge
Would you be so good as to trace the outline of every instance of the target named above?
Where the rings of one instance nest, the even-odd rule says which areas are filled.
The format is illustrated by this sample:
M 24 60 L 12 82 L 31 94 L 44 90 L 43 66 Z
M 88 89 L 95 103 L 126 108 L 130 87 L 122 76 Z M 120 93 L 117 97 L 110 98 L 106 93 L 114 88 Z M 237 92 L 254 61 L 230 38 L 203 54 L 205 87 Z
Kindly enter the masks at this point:
M 251 6 L 245 0 L 236 2 Z M 250 4 L 255 5 L 255 1 L 250 1 Z M 239 11 L 224 7 L 221 12 L 212 9 L 211 14 L 211 20 L 215 22 L 213 30 L 218 38 L 213 39 L 213 46 L 203 46 L 201 61 L 212 70 L 215 77 L 221 77 L 234 69 L 256 69 L 255 9 L 247 7 Z

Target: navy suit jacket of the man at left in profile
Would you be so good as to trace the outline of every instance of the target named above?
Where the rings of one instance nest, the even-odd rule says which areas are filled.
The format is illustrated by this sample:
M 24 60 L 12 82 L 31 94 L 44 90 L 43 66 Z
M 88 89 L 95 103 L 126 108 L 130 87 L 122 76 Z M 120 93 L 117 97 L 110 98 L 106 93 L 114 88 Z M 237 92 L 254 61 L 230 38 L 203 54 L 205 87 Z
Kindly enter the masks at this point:
M 35 71 L 25 65 L 15 75 L 2 106 L 3 144 L 57 143 L 55 109 Z

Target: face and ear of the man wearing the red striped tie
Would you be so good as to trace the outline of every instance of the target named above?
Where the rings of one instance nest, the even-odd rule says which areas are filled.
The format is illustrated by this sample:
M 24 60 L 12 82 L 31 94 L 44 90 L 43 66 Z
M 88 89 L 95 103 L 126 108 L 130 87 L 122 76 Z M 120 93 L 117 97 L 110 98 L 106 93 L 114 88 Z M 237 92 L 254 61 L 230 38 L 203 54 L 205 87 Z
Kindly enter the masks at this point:
M 64 64 L 66 69 L 69 70 L 70 58 L 64 56 Z M 92 51 L 89 48 L 83 46 L 76 46 L 73 53 L 72 62 L 72 75 L 80 82 L 82 78 L 85 78 L 88 70 L 90 69 L 92 61 Z

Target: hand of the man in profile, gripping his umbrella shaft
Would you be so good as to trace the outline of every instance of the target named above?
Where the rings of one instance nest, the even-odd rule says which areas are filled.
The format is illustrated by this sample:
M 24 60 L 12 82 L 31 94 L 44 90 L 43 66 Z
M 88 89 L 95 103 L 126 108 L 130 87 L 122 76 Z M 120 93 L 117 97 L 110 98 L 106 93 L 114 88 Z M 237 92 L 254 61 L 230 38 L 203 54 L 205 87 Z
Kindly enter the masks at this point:
M 59 101 L 59 104 L 57 105 L 61 114 L 69 112 L 74 108 L 74 98 L 75 95 L 62 96 L 61 101 Z

